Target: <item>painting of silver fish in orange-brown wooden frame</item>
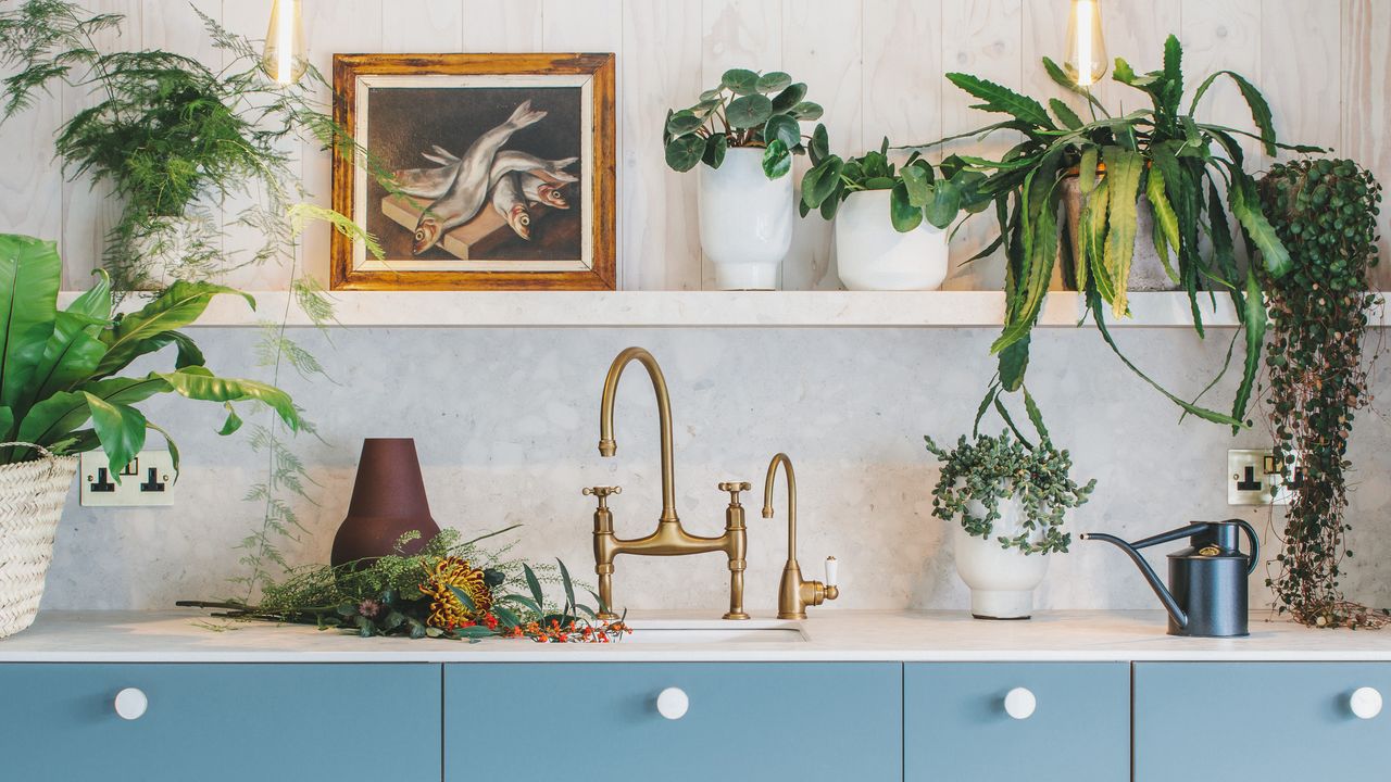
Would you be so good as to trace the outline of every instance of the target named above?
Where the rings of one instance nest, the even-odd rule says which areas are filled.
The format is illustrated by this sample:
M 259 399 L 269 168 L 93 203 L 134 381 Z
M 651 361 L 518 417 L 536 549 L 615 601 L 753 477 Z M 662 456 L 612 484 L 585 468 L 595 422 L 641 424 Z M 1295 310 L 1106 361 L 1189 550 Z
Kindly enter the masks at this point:
M 615 288 L 613 54 L 335 54 L 334 92 L 383 250 L 334 232 L 334 289 Z

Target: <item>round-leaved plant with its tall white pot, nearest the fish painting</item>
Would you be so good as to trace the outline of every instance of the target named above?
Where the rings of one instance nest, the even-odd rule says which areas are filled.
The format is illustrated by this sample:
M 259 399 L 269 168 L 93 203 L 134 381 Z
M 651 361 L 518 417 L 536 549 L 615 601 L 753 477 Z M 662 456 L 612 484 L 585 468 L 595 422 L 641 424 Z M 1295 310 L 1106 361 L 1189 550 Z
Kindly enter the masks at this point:
M 722 289 L 778 287 L 778 266 L 791 246 L 791 156 L 811 141 L 801 122 L 822 113 L 805 96 L 807 85 L 785 72 L 733 68 L 700 103 L 666 113 L 666 164 L 690 171 L 704 163 L 700 241 Z M 825 127 L 817 135 L 825 143 Z

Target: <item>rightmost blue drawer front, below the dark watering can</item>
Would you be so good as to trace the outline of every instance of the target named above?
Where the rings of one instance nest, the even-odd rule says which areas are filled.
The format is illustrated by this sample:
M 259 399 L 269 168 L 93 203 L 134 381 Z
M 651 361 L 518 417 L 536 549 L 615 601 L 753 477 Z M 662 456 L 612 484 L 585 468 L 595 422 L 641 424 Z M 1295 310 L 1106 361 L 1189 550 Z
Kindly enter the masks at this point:
M 1391 707 L 1391 664 L 1136 664 L 1135 779 L 1381 779 L 1391 708 L 1359 719 L 1359 687 Z

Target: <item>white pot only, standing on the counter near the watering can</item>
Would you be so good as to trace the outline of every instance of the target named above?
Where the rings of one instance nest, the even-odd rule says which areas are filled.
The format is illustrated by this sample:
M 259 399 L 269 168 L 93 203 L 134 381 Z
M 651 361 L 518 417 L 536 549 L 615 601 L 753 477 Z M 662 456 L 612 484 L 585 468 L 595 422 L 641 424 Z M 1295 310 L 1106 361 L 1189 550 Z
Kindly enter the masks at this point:
M 971 501 L 971 515 L 983 515 L 985 508 Z M 1047 555 L 1002 548 L 1000 536 L 1014 537 L 1021 532 L 1024 506 L 1018 500 L 1000 502 L 1000 518 L 989 538 L 975 537 L 956 525 L 957 575 L 971 587 L 971 615 L 976 619 L 1028 619 L 1034 612 L 1034 590 L 1047 573 Z

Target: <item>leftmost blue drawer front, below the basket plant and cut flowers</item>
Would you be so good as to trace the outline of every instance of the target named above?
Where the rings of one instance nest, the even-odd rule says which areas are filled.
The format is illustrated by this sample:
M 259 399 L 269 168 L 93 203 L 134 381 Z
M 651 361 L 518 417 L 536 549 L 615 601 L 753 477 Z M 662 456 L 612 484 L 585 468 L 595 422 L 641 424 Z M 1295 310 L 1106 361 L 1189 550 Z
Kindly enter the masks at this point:
M 440 779 L 438 665 L 10 664 L 0 693 L 4 779 Z

